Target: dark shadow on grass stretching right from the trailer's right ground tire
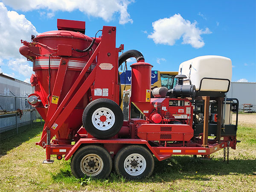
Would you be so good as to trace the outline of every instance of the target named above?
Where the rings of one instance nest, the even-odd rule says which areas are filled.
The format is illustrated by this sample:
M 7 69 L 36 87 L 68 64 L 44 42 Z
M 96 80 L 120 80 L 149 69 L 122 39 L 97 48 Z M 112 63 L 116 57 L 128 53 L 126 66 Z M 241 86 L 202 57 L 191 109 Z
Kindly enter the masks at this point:
M 256 160 L 230 160 L 229 164 L 222 158 L 201 160 L 187 156 L 174 156 L 165 161 L 155 161 L 153 177 L 165 181 L 179 178 L 189 180 L 209 180 L 209 175 L 253 175 Z

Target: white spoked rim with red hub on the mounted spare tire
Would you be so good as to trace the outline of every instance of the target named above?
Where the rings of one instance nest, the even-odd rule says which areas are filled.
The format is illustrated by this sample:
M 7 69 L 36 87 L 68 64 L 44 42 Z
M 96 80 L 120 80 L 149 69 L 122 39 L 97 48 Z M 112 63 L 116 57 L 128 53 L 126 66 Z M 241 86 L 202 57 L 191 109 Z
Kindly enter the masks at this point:
M 102 116 L 105 116 L 102 118 Z M 103 120 L 102 120 L 103 119 Z M 105 119 L 105 121 L 104 121 Z M 115 123 L 115 115 L 109 108 L 98 108 L 92 115 L 92 122 L 94 127 L 100 131 L 107 131 Z

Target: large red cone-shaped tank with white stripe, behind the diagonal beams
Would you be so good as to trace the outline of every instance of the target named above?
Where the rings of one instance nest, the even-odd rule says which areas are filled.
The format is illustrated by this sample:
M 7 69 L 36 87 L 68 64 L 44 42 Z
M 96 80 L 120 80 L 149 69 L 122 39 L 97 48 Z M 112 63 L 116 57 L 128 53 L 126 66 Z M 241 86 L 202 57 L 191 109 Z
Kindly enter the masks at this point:
M 35 75 L 38 78 L 39 89 L 35 90 L 35 93 L 40 96 L 42 100 L 42 105 L 45 106 L 48 104 L 47 97 L 49 94 L 48 85 L 49 85 L 49 72 L 48 72 L 48 64 L 49 64 L 49 54 L 52 54 L 50 57 L 50 90 L 51 93 L 53 91 L 55 79 L 58 72 L 58 66 L 61 60 L 61 57 L 58 56 L 58 44 L 64 45 L 71 45 L 73 49 L 86 49 L 91 44 L 93 39 L 83 35 L 79 32 L 72 32 L 72 31 L 50 31 L 44 32 L 37 35 L 33 42 L 37 42 L 35 46 L 40 47 L 40 56 L 36 56 L 33 59 L 33 71 L 35 71 Z M 98 39 L 97 39 L 98 40 Z M 98 40 L 99 41 L 99 40 Z M 95 50 L 98 45 L 96 41 L 93 45 L 92 49 Z M 79 76 L 81 70 L 89 60 L 90 56 L 92 55 L 93 51 L 90 52 L 76 52 L 72 50 L 72 56 L 69 57 L 69 63 L 67 72 L 65 74 L 63 87 L 61 90 L 61 95 L 58 100 L 58 105 L 63 101 L 64 97 L 67 95 L 68 91 L 72 87 L 73 83 L 76 81 L 77 77 Z M 48 56 L 47 56 L 48 55 Z M 83 57 L 81 57 L 83 56 Z M 94 65 L 93 65 L 94 64 Z M 87 71 L 86 75 L 82 82 L 87 78 L 90 74 L 90 71 L 96 65 L 96 60 L 93 61 L 93 64 Z M 79 87 L 79 86 L 78 86 Z M 59 141 L 59 144 L 70 144 L 70 134 L 76 133 L 82 125 L 82 113 L 85 106 L 89 102 L 90 90 L 84 95 L 83 99 L 79 102 L 70 116 L 62 125 L 60 131 L 56 135 L 56 139 Z M 49 98 L 51 102 L 51 97 Z M 48 108 L 44 108 L 43 106 L 37 107 L 36 109 L 41 114 L 42 118 L 45 120 Z M 51 117 L 48 117 L 51 118 Z

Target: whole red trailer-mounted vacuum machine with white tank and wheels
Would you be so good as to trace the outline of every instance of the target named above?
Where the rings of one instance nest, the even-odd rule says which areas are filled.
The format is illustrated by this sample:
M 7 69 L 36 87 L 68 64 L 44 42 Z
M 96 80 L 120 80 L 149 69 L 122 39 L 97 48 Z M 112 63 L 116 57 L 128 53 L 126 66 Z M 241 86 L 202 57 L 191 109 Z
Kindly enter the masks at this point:
M 57 21 L 58 30 L 22 41 L 20 53 L 33 62 L 28 102 L 45 120 L 41 140 L 46 160 L 71 159 L 75 177 L 105 178 L 114 167 L 129 179 L 148 177 L 153 155 L 209 155 L 236 148 L 238 100 L 227 99 L 231 61 L 207 55 L 180 65 L 172 89 L 151 90 L 151 64 L 137 50 L 116 48 L 116 27 L 84 35 L 85 22 Z M 121 90 L 118 69 L 128 58 L 131 90 Z M 231 73 L 231 75 L 230 75 Z M 126 98 L 128 121 L 120 103 Z M 125 102 L 124 102 L 125 103 Z M 131 110 L 133 109 L 133 110 Z M 236 125 L 232 125 L 232 111 Z M 137 113 L 137 118 L 130 118 Z M 211 137 L 209 137 L 211 136 Z

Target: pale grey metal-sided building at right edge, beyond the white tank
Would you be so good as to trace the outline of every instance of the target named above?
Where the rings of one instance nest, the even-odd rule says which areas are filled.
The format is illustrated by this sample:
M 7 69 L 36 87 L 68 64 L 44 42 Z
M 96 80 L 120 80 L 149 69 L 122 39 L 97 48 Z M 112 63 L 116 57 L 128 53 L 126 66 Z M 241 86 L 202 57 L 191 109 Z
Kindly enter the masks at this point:
M 243 104 L 253 104 L 253 111 L 256 111 L 256 82 L 231 82 L 228 98 L 239 100 L 239 109 L 243 109 Z

